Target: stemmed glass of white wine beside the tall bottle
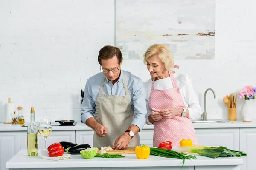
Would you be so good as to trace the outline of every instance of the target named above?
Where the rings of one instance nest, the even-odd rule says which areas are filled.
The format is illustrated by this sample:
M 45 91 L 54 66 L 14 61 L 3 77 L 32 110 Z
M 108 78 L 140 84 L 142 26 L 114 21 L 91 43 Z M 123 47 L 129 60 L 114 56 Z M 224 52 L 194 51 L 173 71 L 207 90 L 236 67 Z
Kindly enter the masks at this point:
M 52 124 L 50 119 L 40 119 L 39 123 L 39 133 L 41 136 L 44 137 L 44 146 L 45 150 L 46 148 L 46 138 L 51 134 L 52 132 Z

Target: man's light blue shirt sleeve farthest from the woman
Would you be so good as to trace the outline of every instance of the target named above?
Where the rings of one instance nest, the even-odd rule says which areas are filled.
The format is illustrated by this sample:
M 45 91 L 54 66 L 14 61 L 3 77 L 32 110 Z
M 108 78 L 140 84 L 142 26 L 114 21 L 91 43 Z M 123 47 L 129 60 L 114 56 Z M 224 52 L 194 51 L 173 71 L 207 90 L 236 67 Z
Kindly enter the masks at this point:
M 92 87 L 89 80 L 87 80 L 84 88 L 84 100 L 81 105 L 81 121 L 83 123 L 90 117 L 94 117 L 95 113 L 95 103 L 92 98 Z

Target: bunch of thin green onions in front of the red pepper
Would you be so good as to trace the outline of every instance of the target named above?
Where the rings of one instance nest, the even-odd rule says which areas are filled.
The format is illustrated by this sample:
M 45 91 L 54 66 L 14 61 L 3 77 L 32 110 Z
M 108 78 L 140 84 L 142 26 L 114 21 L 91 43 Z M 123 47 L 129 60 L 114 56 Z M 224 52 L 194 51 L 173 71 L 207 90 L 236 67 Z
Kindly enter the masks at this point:
M 155 147 L 150 147 L 150 154 L 155 155 L 155 156 L 165 157 L 165 158 L 183 159 L 182 167 L 185 163 L 185 159 L 196 159 L 196 157 L 194 155 L 188 155 L 186 153 L 179 153 L 174 150 L 159 149 L 159 148 L 155 148 Z

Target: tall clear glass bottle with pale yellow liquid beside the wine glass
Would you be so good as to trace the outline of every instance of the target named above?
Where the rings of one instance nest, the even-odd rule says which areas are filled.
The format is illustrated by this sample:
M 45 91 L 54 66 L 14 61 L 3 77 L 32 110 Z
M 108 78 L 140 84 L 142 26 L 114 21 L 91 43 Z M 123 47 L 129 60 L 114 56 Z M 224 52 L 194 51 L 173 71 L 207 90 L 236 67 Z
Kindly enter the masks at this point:
M 38 125 L 35 123 L 35 111 L 31 108 L 28 125 L 28 156 L 38 155 Z

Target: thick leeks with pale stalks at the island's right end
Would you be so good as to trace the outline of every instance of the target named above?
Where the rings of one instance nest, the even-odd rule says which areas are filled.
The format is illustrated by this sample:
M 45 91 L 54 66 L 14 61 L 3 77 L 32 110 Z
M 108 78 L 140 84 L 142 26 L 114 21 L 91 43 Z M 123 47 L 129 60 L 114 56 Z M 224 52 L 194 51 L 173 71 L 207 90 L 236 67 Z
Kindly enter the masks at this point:
M 247 156 L 247 153 L 231 150 L 223 146 L 208 147 L 195 144 L 193 144 L 192 147 L 178 147 L 178 152 L 197 153 L 201 156 L 207 156 L 210 158 Z

